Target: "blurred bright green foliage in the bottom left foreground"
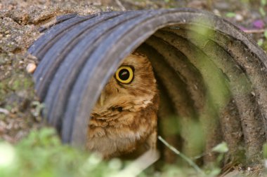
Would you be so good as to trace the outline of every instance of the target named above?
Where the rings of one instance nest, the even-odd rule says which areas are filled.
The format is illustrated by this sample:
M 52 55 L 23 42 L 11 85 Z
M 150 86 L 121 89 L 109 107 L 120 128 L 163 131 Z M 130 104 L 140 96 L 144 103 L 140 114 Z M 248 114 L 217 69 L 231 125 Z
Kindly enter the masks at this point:
M 96 154 L 62 145 L 50 128 L 32 131 L 15 146 L 0 143 L 1 177 L 105 176 L 114 169 Z

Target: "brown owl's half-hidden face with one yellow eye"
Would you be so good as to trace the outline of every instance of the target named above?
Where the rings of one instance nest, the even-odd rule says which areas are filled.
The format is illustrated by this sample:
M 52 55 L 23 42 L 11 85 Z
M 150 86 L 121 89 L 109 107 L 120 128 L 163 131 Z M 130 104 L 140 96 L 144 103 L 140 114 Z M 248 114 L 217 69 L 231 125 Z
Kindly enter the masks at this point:
M 124 59 L 124 62 L 100 94 L 98 103 L 93 108 L 93 116 L 103 115 L 112 111 L 112 115 L 122 111 L 136 112 L 152 104 L 157 94 L 157 84 L 152 66 L 147 57 L 134 53 Z

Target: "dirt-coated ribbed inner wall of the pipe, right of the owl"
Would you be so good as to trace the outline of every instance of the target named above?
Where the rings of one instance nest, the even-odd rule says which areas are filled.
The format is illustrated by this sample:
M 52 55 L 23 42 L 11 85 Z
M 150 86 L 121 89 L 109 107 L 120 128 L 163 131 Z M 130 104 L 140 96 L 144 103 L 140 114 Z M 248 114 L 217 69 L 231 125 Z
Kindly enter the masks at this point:
M 164 85 L 161 89 L 166 96 L 162 97 L 169 99 L 162 104 L 169 101 L 168 106 L 179 119 L 183 152 L 190 157 L 200 154 L 199 149 L 194 152 L 195 146 L 190 147 L 192 141 L 188 136 L 190 122 L 197 119 L 206 132 L 206 152 L 224 140 L 230 148 L 229 156 L 235 157 L 231 160 L 244 160 L 245 152 L 250 159 L 258 158 L 259 144 L 266 141 L 266 129 L 259 105 L 255 104 L 256 97 L 252 96 L 254 78 L 249 78 L 235 61 L 240 57 L 236 55 L 244 53 L 233 55 L 226 48 L 226 44 L 234 41 L 230 36 L 210 29 L 204 29 L 207 33 L 203 35 L 192 29 L 190 25 L 160 29 L 139 48 L 148 55 L 159 83 Z M 224 38 L 224 46 L 217 43 L 218 38 Z M 247 121 L 252 121 L 255 115 L 260 121 L 249 125 Z M 168 114 L 159 113 L 160 121 L 167 118 Z M 206 162 L 215 158 L 214 154 L 204 157 Z

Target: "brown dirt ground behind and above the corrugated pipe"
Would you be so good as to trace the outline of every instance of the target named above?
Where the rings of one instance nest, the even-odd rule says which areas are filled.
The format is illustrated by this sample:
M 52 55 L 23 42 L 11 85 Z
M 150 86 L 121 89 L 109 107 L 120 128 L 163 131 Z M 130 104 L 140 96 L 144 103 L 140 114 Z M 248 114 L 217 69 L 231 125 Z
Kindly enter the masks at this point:
M 202 0 L 202 1 L 79 1 L 79 0 L 2 0 L 0 2 L 0 139 L 17 142 L 30 129 L 42 125 L 39 114 L 41 104 L 34 95 L 34 82 L 30 66 L 37 59 L 27 55 L 27 48 L 41 34 L 39 28 L 53 22 L 57 15 L 81 15 L 107 10 L 139 10 L 155 8 L 200 8 L 209 10 L 263 39 L 266 17 L 264 4 L 256 1 Z M 233 15 L 234 14 L 234 15 Z M 255 22 L 260 20 L 260 24 Z M 263 45 L 264 47 L 264 45 Z M 32 65 L 31 65 L 32 64 Z

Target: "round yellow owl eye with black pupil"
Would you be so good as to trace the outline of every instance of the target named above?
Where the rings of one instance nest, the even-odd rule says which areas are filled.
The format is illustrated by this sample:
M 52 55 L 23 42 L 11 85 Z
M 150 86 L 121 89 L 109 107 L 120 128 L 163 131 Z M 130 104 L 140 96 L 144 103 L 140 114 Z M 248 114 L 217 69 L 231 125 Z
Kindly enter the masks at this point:
M 115 74 L 120 83 L 131 83 L 133 80 L 133 69 L 130 66 L 120 66 Z

